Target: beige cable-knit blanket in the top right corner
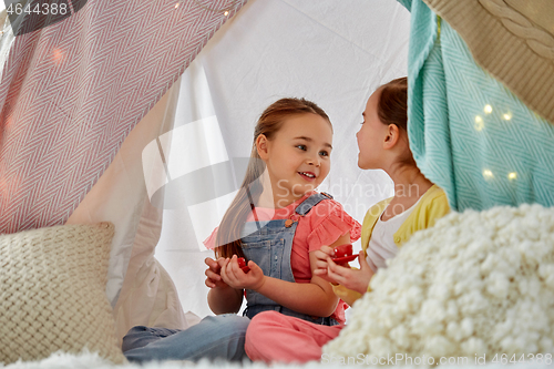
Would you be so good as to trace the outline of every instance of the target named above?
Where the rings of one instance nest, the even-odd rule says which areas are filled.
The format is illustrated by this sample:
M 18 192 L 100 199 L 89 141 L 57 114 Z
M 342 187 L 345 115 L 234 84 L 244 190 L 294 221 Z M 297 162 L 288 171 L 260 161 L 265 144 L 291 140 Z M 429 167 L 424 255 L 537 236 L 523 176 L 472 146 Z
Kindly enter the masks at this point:
M 552 0 L 424 0 L 468 43 L 476 63 L 554 124 Z

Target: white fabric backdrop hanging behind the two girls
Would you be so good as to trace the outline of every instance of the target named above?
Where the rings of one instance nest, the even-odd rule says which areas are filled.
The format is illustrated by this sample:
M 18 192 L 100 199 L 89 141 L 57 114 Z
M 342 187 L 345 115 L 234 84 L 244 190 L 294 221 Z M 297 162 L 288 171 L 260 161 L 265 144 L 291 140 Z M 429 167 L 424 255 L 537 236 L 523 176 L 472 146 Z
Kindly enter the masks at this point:
M 409 20 L 393 0 L 250 0 L 182 78 L 175 127 L 165 137 L 172 139 L 168 173 L 248 156 L 261 111 L 280 98 L 306 98 L 326 110 L 335 130 L 331 171 L 320 189 L 361 223 L 369 206 L 392 194 L 392 182 L 358 168 L 355 135 L 369 94 L 407 74 Z M 166 196 L 155 257 L 184 310 L 202 317 L 211 314 L 203 260 L 213 253 L 198 240 L 218 224 L 233 193 L 199 204 L 194 196 L 194 188 L 178 201 Z

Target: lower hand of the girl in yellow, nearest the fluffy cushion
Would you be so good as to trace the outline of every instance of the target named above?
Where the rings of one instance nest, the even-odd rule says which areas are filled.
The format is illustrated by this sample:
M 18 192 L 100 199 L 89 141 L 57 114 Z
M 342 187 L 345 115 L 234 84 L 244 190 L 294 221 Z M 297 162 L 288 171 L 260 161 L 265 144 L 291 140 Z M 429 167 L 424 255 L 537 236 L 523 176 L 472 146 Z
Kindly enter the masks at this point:
M 368 290 L 369 281 L 373 276 L 373 270 L 369 267 L 363 252 L 360 252 L 358 260 L 360 262 L 360 269 L 351 269 L 349 267 L 337 265 L 329 258 L 327 260 L 327 276 L 329 279 L 335 280 L 348 289 L 353 289 L 360 294 L 365 294 Z

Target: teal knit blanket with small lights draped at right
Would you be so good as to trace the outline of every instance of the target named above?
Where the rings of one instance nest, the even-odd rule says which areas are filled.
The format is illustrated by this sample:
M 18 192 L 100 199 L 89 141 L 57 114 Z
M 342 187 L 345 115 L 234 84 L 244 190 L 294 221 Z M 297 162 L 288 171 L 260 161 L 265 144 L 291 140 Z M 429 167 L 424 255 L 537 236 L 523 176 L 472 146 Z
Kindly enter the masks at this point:
M 554 126 L 481 69 L 421 0 L 411 11 L 410 147 L 453 209 L 554 205 Z

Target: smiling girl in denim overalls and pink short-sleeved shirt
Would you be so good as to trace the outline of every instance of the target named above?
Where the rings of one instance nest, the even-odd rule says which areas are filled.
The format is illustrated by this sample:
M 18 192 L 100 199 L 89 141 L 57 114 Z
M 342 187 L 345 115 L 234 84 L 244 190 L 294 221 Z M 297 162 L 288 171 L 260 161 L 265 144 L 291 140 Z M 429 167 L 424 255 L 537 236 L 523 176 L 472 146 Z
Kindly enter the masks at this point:
M 134 327 L 123 338 L 129 360 L 240 360 L 250 319 L 266 310 L 318 325 L 345 321 L 330 284 L 312 274 L 322 245 L 360 236 L 359 223 L 315 191 L 329 173 L 331 142 L 329 117 L 312 102 L 281 99 L 264 111 L 240 189 L 205 242 L 216 253 L 205 274 L 217 316 L 186 330 Z

